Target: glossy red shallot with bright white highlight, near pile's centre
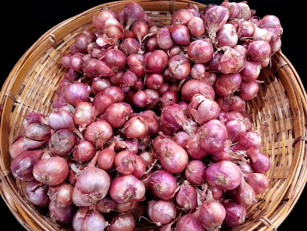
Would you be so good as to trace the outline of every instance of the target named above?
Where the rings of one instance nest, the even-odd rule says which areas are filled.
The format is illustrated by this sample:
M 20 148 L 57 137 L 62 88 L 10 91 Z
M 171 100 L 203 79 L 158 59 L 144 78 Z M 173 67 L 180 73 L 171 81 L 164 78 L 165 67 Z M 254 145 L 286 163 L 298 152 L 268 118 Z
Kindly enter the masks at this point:
M 145 134 L 148 134 L 149 126 L 142 117 L 136 116 L 125 123 L 122 132 L 127 138 L 142 138 Z

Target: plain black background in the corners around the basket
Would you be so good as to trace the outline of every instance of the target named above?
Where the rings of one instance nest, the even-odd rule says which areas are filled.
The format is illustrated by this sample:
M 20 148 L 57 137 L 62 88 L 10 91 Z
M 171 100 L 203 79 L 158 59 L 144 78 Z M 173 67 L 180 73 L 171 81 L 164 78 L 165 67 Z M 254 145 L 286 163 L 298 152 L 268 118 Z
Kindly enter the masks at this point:
M 219 0 L 201 1 L 205 4 L 220 3 Z M 26 50 L 47 30 L 62 21 L 77 15 L 91 7 L 102 4 L 103 0 L 23 0 L 1 2 L 0 64 L 1 85 L 23 56 Z M 276 15 L 283 27 L 281 50 L 299 73 L 303 83 L 306 75 L 306 8 L 301 1 L 292 0 L 249 0 L 256 15 Z M 305 85 L 307 86 L 307 85 Z M 278 228 L 306 230 L 307 187 L 303 191 L 294 209 Z M 8 224 L 12 230 L 24 230 L 0 198 L 0 223 Z M 3 215 L 4 214 L 4 215 Z

